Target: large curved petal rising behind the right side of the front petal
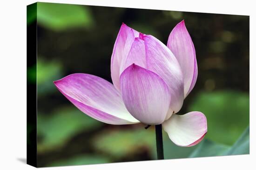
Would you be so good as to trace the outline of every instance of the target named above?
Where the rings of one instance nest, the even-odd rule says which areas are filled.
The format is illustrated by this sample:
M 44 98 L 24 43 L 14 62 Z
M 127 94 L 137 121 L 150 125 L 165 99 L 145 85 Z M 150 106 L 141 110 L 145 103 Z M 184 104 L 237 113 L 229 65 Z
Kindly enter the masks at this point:
M 166 45 L 153 36 L 144 36 L 147 69 L 155 72 L 168 85 L 172 96 L 170 108 L 177 113 L 183 104 L 184 83 L 180 65 Z

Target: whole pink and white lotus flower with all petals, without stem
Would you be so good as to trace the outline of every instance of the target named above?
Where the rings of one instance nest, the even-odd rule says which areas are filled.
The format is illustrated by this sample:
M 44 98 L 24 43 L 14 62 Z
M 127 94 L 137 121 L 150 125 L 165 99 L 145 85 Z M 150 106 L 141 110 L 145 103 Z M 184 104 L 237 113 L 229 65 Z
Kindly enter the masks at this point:
M 197 79 L 195 48 L 184 21 L 171 31 L 167 46 L 122 24 L 111 57 L 111 77 L 114 85 L 82 73 L 54 84 L 78 109 L 101 122 L 162 124 L 179 146 L 203 139 L 207 132 L 203 113 L 175 114 Z

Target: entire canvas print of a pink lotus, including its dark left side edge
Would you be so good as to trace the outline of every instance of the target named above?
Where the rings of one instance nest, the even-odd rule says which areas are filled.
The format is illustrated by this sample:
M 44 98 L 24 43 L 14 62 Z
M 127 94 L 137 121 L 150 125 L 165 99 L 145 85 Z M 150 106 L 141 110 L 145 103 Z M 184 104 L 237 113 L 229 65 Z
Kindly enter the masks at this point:
M 27 6 L 27 164 L 249 154 L 249 16 Z

